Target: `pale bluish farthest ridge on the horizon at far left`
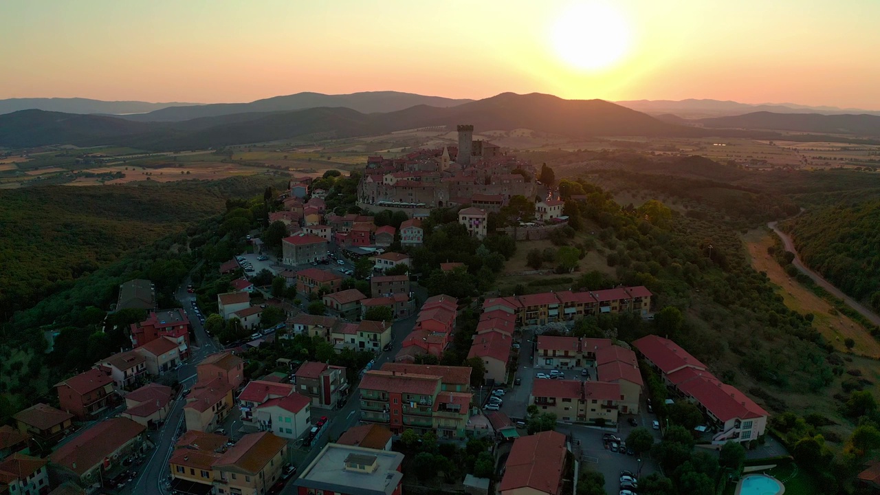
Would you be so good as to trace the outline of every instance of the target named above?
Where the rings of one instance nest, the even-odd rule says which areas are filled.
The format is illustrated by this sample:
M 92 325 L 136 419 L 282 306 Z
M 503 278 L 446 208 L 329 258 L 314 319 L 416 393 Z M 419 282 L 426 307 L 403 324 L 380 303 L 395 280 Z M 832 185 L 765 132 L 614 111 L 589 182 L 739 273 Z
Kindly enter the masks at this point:
M 0 100 L 0 114 L 18 110 L 46 110 L 67 114 L 143 114 L 165 107 L 199 105 L 198 103 L 148 103 L 146 101 L 103 101 L 88 98 L 10 98 Z

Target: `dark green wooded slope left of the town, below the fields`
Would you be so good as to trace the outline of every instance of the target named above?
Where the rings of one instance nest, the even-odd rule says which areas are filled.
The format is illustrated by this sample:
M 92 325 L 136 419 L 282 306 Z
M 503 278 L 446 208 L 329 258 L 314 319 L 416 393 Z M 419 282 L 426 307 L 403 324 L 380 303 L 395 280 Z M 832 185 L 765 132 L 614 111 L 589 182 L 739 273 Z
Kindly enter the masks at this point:
M 8 320 L 131 249 L 217 215 L 226 197 L 261 192 L 271 181 L 0 190 L 0 315 Z

